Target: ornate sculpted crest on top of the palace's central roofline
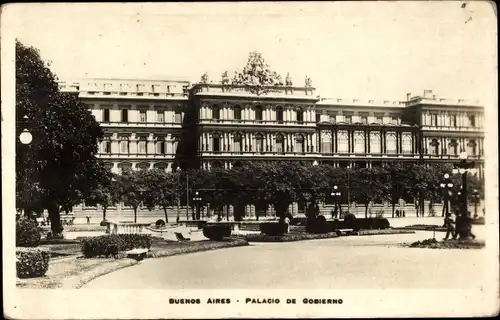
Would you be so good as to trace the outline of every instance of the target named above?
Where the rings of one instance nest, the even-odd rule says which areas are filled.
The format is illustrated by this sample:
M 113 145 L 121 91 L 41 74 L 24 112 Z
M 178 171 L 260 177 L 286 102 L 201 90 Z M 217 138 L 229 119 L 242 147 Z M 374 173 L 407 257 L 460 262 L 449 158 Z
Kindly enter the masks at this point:
M 281 77 L 271 71 L 259 52 L 250 52 L 248 61 L 243 70 L 233 78 L 233 85 L 246 86 L 247 90 L 257 95 L 275 91 L 273 88 L 283 86 Z

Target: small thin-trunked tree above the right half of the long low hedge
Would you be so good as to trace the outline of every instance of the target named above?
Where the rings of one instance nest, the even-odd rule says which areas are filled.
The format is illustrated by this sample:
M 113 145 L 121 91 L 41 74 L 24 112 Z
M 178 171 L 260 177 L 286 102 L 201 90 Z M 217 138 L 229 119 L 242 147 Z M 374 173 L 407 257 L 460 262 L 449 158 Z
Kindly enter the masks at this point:
M 151 192 L 146 185 L 146 174 L 146 171 L 124 171 L 117 176 L 118 198 L 134 209 L 134 223 L 137 223 L 137 209 Z

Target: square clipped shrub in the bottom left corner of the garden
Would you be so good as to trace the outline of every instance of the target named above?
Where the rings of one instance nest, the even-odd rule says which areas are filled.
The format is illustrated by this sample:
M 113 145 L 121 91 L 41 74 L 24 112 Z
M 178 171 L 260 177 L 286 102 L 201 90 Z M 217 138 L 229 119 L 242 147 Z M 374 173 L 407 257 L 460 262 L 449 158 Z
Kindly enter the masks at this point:
M 16 273 L 19 278 L 43 277 L 49 269 L 49 248 L 16 248 Z

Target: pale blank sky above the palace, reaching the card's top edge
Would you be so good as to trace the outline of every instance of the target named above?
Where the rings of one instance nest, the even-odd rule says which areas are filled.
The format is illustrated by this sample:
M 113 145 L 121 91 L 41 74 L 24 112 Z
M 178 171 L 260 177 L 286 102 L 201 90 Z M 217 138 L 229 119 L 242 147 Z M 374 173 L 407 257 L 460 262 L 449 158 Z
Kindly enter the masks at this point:
M 61 80 L 240 71 L 250 51 L 329 98 L 482 100 L 496 74 L 489 2 L 20 4 L 15 35 Z M 492 73 L 493 71 L 493 73 Z

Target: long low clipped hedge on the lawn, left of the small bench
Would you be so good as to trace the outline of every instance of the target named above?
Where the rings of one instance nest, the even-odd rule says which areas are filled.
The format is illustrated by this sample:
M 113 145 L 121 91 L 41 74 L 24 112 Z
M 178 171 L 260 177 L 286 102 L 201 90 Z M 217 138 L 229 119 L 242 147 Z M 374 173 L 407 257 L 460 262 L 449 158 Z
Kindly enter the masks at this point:
M 84 238 L 81 244 L 81 251 L 86 258 L 116 257 L 119 251 L 134 248 L 151 248 L 151 236 L 147 234 L 111 234 Z

